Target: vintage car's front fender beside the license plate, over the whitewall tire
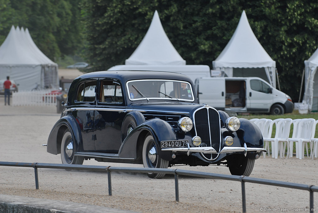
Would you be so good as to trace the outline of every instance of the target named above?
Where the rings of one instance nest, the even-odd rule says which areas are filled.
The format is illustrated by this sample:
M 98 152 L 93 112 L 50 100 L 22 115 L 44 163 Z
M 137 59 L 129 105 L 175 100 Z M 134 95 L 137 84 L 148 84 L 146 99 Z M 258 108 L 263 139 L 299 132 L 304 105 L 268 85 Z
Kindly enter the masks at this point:
M 177 136 L 172 126 L 159 118 L 147 120 L 136 126 L 123 141 L 119 150 L 119 157 L 137 159 L 141 155 L 141 153 L 137 153 L 138 147 L 143 146 L 143 140 L 148 132 L 154 137 L 158 155 L 163 160 L 172 160 L 170 152 L 161 151 L 160 141 L 177 140 Z

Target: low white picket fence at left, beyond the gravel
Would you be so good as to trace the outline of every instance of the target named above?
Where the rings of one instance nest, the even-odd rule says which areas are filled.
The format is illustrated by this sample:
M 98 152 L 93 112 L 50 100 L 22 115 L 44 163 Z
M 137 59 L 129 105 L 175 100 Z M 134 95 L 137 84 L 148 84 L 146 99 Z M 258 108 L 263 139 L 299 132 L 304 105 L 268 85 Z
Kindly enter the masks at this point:
M 56 106 L 57 94 L 53 89 L 19 91 L 12 93 L 13 106 Z

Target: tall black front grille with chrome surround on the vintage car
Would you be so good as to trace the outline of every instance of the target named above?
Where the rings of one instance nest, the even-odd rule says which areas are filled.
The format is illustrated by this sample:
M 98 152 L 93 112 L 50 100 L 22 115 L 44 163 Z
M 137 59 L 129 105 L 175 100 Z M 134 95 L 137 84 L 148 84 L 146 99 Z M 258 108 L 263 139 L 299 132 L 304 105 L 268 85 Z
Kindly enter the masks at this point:
M 210 107 L 202 107 L 194 112 L 194 127 L 196 135 L 202 140 L 200 147 L 212 146 L 220 151 L 221 129 L 218 111 Z M 207 160 L 213 160 L 218 154 L 202 153 Z

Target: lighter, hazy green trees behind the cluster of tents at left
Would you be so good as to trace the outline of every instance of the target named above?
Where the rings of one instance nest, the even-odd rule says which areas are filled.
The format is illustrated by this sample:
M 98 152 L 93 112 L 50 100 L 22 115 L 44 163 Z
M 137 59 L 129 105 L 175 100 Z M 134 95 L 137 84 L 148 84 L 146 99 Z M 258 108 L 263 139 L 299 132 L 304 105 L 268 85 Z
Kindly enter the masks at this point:
M 79 0 L 0 0 L 0 43 L 12 25 L 28 28 L 38 48 L 53 61 L 82 45 Z

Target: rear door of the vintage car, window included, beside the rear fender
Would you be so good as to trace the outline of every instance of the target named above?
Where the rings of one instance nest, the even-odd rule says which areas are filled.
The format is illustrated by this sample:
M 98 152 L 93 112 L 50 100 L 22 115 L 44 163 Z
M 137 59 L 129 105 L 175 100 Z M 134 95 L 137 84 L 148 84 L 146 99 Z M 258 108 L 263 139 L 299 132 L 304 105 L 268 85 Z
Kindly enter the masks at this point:
M 94 109 L 96 99 L 96 79 L 81 82 L 77 89 L 73 109 L 71 110 L 81 130 L 83 151 L 94 151 Z

